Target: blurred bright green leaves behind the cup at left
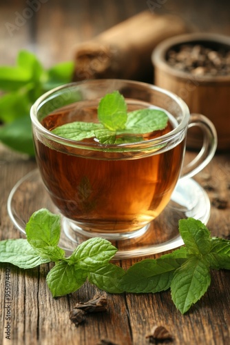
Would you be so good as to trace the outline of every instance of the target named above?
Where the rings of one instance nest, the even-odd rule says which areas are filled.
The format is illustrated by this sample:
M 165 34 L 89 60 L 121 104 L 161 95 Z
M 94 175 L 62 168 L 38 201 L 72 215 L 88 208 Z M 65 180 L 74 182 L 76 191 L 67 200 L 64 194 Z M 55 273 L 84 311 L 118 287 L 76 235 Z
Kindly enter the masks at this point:
M 0 66 L 0 141 L 13 150 L 34 156 L 30 108 L 44 92 L 69 83 L 74 63 L 45 70 L 36 55 L 19 51 L 16 66 Z

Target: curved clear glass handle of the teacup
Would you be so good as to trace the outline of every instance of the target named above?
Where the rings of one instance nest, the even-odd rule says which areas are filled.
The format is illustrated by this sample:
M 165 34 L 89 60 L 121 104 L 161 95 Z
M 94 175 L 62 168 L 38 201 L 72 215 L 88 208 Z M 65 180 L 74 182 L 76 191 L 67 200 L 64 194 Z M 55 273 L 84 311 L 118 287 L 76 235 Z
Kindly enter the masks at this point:
M 188 129 L 198 126 L 203 132 L 202 148 L 198 155 L 190 161 L 187 165 L 183 166 L 183 174 L 181 179 L 193 177 L 198 174 L 213 158 L 217 148 L 217 133 L 213 123 L 201 114 L 191 114 Z

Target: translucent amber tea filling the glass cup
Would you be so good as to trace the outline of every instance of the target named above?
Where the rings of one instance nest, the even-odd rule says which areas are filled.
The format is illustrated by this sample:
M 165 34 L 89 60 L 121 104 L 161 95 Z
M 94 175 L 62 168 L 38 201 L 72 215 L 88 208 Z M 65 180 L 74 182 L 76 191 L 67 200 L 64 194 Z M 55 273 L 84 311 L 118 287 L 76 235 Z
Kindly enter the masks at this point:
M 127 101 L 129 110 L 143 103 Z M 146 106 L 146 104 L 145 104 Z M 150 105 L 149 105 L 150 106 Z M 96 103 L 78 102 L 55 110 L 42 125 L 48 130 L 72 121 L 97 121 Z M 165 130 L 156 131 L 149 140 L 174 129 L 170 117 Z M 106 148 L 84 150 L 56 143 L 50 147 L 35 139 L 36 160 L 41 177 L 61 213 L 83 230 L 97 233 L 127 233 L 142 228 L 156 218 L 168 204 L 184 155 L 185 140 L 169 150 L 149 152 L 109 152 Z M 121 152 L 120 152 L 121 151 Z

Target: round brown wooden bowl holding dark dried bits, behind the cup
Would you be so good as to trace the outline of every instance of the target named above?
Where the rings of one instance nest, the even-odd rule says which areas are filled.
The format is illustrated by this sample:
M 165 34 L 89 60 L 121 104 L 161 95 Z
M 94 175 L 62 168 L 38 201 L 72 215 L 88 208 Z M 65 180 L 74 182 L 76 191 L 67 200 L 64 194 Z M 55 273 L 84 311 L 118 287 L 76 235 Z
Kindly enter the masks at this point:
M 181 97 L 191 113 L 208 117 L 218 132 L 218 150 L 227 150 L 230 148 L 230 75 L 194 75 L 170 66 L 168 52 L 187 43 L 230 51 L 230 37 L 220 34 L 192 33 L 166 39 L 156 46 L 151 56 L 154 83 Z M 194 129 L 187 135 L 190 148 L 201 144 L 200 132 Z

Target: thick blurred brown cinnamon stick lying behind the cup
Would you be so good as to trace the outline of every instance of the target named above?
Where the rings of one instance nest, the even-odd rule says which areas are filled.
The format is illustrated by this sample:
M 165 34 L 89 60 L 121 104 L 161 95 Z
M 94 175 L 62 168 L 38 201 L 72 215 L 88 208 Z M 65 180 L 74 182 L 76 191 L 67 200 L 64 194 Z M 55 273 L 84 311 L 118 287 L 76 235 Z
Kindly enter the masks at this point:
M 179 17 L 140 12 L 94 39 L 79 43 L 76 46 L 73 79 L 152 81 L 152 50 L 163 39 L 188 30 Z

